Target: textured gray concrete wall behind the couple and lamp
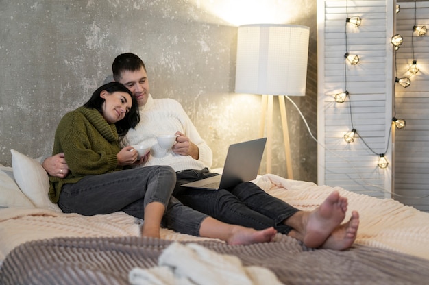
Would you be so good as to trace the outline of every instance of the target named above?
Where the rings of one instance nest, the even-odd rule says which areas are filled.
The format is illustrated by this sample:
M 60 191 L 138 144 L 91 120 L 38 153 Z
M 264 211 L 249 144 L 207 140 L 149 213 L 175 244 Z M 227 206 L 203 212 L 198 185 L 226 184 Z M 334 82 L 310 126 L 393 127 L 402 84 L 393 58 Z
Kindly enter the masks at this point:
M 110 76 L 116 55 L 130 51 L 147 64 L 151 94 L 182 103 L 214 151 L 213 166 L 222 166 L 230 143 L 258 136 L 260 116 L 258 95 L 234 93 L 237 28 L 219 16 L 219 5 L 238 2 L 0 0 L 0 163 L 10 165 L 10 149 L 51 153 L 60 118 Z M 236 13 L 252 13 L 242 2 Z M 302 8 L 293 0 L 254 2 L 260 10 L 277 5 L 276 23 L 310 27 L 307 95 L 294 100 L 316 134 L 316 1 L 299 2 Z M 280 122 L 278 103 L 275 110 Z M 289 102 L 286 110 L 295 179 L 316 181 L 316 145 Z M 272 173 L 286 177 L 277 125 L 273 143 Z

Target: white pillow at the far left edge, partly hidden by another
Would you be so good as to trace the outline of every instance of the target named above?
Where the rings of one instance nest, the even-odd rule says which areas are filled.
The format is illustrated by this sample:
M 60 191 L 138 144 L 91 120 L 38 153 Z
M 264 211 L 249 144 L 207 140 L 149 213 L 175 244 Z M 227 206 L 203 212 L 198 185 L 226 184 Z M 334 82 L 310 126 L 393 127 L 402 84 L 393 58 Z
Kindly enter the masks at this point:
M 35 208 L 16 185 L 12 167 L 0 166 L 0 208 Z

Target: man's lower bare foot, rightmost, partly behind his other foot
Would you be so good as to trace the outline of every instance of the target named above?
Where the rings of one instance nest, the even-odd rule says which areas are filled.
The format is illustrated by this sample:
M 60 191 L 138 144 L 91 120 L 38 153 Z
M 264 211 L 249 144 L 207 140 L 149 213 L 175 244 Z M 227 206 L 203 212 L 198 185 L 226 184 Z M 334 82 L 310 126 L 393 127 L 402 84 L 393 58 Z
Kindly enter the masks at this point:
M 344 250 L 351 247 L 356 240 L 359 227 L 359 214 L 356 211 L 352 212 L 352 217 L 347 223 L 336 227 L 334 232 L 326 239 L 326 242 L 321 245 L 323 249 Z

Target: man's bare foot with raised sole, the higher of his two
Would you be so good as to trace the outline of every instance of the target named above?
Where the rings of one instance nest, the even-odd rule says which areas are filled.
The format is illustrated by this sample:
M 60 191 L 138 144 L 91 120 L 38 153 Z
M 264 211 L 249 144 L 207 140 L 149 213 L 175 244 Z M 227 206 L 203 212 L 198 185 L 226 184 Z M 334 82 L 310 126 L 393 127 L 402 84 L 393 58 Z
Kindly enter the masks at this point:
M 325 243 L 332 231 L 341 224 L 347 211 L 347 198 L 338 191 L 330 195 L 321 205 L 308 214 L 303 243 L 307 247 L 317 248 Z

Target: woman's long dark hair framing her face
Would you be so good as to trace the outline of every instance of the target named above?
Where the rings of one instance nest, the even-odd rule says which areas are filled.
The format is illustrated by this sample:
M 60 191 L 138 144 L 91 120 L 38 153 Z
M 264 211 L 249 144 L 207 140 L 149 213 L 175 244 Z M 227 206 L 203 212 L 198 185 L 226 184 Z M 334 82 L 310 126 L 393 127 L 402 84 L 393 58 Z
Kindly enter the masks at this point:
M 101 92 L 106 90 L 109 94 L 114 92 L 125 92 L 130 94 L 132 99 L 132 106 L 130 111 L 125 114 L 125 117 L 122 120 L 114 123 L 117 127 L 117 132 L 119 136 L 125 136 L 127 134 L 128 129 L 136 127 L 136 125 L 140 122 L 140 114 L 138 113 L 138 103 L 137 99 L 132 95 L 132 92 L 128 90 L 123 84 L 119 82 L 110 82 L 108 84 L 104 84 L 100 86 L 93 92 L 93 96 L 90 97 L 88 102 L 84 104 L 87 108 L 97 109 L 100 114 L 103 114 L 103 103 L 105 101 L 104 98 L 101 98 Z

